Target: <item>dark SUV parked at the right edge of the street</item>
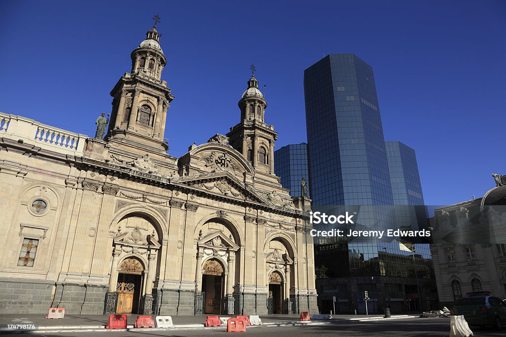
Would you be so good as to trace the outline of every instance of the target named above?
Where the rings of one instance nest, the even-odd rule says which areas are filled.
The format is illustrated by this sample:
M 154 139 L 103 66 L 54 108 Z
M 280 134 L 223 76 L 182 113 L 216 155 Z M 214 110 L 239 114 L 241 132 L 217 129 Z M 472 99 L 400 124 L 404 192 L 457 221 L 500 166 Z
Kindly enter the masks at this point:
M 469 325 L 495 325 L 500 330 L 506 323 L 506 300 L 489 295 L 464 297 L 457 300 L 450 312 L 464 315 Z

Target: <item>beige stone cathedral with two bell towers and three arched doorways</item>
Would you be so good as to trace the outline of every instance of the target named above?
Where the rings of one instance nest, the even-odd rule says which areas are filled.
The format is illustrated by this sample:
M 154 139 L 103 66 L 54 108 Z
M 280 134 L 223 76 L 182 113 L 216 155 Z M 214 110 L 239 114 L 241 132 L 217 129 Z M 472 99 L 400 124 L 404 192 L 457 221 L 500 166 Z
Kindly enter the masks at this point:
M 227 136 L 168 155 L 159 38 L 132 52 L 103 139 L 0 114 L 0 313 L 317 313 L 310 200 L 274 175 L 257 79 Z

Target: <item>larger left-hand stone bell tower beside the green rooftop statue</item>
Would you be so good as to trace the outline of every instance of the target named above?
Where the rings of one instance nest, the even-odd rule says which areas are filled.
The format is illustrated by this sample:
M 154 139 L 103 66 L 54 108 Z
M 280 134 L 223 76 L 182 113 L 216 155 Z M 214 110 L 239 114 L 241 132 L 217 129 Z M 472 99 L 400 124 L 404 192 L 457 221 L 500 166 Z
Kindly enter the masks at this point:
M 112 113 L 105 140 L 126 150 L 166 152 L 165 122 L 174 99 L 161 72 L 167 60 L 159 44 L 158 19 L 146 39 L 132 52 L 132 71 L 125 73 L 111 91 Z

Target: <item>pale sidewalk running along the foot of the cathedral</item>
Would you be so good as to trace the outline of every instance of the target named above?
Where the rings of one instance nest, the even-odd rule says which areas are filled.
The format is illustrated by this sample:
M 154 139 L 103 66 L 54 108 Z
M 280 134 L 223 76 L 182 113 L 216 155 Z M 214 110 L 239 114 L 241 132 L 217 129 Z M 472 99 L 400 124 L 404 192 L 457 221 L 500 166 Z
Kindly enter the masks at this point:
M 137 314 L 127 315 L 127 322 L 129 330 L 133 329 L 133 324 L 137 319 Z M 181 330 L 181 329 L 202 329 L 207 315 L 197 316 L 172 316 L 174 327 L 172 328 L 159 328 L 160 330 Z M 46 319 L 45 314 L 11 314 L 0 315 L 0 333 L 1 332 L 16 332 L 16 331 L 36 331 L 36 332 L 61 332 L 61 331 L 103 331 L 107 325 L 109 315 L 65 315 L 63 319 Z M 155 315 L 153 315 L 153 318 Z M 235 317 L 228 315 L 219 315 L 219 317 Z M 391 319 L 407 318 L 408 315 L 392 315 Z M 327 324 L 331 320 L 312 320 L 300 321 L 300 315 L 291 314 L 273 314 L 268 316 L 261 316 L 264 325 L 307 325 L 307 324 Z M 379 320 L 383 315 L 335 315 L 332 320 Z M 29 329 L 12 329 L 8 328 L 8 324 L 33 324 L 34 328 Z M 212 329 L 213 327 L 205 327 Z M 215 327 L 224 328 L 224 327 Z M 146 330 L 144 328 L 144 330 Z

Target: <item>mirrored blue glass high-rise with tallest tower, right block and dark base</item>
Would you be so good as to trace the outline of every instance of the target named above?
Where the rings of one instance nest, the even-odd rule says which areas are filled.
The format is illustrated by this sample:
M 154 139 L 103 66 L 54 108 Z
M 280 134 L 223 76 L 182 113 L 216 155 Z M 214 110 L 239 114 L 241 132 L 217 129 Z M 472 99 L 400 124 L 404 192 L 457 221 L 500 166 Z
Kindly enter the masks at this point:
M 306 69 L 304 91 L 313 207 L 360 206 L 357 220 L 371 230 L 398 228 L 399 209 L 408 221 L 413 212 L 396 205 L 424 204 L 416 160 L 402 143 L 385 142 L 372 68 L 353 54 L 328 55 Z M 396 240 L 316 244 L 321 312 L 332 308 L 332 297 L 340 312 L 365 312 L 364 291 L 369 312 L 434 306 L 426 245 L 413 253 Z

